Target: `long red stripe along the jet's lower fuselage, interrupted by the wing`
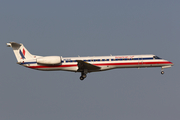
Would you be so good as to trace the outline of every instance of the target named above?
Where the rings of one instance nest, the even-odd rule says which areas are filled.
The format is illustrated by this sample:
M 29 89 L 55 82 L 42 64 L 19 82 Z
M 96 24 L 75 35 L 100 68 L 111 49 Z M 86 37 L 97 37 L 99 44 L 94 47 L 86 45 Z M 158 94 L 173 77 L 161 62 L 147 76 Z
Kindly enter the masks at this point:
M 165 62 L 133 62 L 133 63 L 102 63 L 102 64 L 93 64 L 96 66 L 112 66 L 112 65 L 155 65 L 155 64 L 169 64 L 173 65 L 173 63 L 169 61 Z M 37 69 L 37 68 L 59 68 L 59 67 L 76 67 L 77 64 L 74 65 L 51 65 L 51 66 L 28 66 L 29 68 L 32 69 Z

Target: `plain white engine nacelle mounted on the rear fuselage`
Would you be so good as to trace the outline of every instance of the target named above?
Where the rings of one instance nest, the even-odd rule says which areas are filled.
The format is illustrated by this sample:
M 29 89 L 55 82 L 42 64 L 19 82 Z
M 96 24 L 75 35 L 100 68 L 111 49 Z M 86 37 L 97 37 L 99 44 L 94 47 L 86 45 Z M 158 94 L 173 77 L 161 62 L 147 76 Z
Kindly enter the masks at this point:
M 61 57 L 60 56 L 40 57 L 37 58 L 37 63 L 44 65 L 58 65 L 61 64 Z

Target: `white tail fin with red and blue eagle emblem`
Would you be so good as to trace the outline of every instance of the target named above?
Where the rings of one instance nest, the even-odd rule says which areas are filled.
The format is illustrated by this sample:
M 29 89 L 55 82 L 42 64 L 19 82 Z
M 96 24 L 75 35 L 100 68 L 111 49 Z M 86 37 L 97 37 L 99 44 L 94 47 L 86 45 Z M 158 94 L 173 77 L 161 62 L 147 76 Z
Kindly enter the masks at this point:
M 16 56 L 16 59 L 18 62 L 20 62 L 22 59 L 32 59 L 33 55 L 24 47 L 23 44 L 10 42 L 7 43 L 8 47 L 12 47 L 13 52 Z

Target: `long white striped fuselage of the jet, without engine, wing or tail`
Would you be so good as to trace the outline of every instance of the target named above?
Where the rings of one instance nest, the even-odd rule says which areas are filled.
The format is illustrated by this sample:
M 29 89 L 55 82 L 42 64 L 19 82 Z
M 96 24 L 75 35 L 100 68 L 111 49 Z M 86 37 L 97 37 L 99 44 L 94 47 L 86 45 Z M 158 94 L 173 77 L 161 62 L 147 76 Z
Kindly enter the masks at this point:
M 89 70 L 88 72 L 97 72 L 115 68 L 140 68 L 140 67 L 171 67 L 172 62 L 161 59 L 155 55 L 116 55 L 116 56 L 93 56 L 93 57 L 61 57 L 61 63 L 58 65 L 43 65 L 37 63 L 37 58 L 31 60 L 22 60 L 21 65 L 37 70 L 64 70 L 78 72 L 76 60 L 82 60 L 89 64 L 100 67 L 99 70 Z

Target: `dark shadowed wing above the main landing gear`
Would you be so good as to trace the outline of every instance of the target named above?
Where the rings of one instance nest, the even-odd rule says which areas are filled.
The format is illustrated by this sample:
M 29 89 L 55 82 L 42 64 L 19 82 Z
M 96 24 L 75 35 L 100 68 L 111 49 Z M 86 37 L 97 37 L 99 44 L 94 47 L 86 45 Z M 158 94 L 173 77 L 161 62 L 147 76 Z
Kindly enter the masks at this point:
M 81 71 L 84 71 L 85 69 L 88 70 L 88 71 L 97 71 L 100 69 L 100 67 L 98 66 L 95 66 L 93 64 L 90 64 L 90 63 L 87 63 L 87 62 L 84 62 L 82 60 L 76 60 L 78 62 L 78 70 L 79 72 Z

